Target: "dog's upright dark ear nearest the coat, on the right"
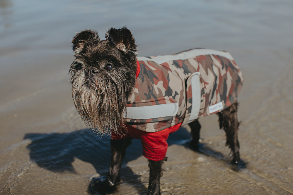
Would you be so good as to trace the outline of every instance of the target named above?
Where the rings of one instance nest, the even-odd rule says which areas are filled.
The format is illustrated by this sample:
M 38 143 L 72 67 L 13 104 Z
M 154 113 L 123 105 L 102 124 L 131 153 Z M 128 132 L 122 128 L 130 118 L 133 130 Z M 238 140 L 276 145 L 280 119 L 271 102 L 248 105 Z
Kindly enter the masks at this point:
M 126 53 L 132 51 L 134 54 L 137 54 L 135 40 L 130 30 L 126 27 L 119 29 L 110 28 L 106 33 L 106 40 Z

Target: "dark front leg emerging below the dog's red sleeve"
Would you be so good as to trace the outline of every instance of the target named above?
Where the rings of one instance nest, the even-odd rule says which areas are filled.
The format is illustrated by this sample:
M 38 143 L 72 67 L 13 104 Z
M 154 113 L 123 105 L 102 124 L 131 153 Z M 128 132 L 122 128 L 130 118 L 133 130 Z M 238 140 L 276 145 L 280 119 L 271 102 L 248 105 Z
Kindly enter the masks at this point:
M 162 165 L 163 165 L 163 161 L 166 161 L 165 159 L 161 161 L 149 160 L 149 187 L 148 187 L 149 195 L 161 194 L 160 178 L 163 175 Z

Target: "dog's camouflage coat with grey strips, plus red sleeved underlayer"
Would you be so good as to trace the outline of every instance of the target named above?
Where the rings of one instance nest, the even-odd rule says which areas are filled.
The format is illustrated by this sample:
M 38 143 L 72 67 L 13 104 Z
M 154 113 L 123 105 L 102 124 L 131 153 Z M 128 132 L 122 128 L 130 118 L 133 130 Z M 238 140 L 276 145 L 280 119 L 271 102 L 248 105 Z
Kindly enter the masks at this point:
M 162 141 L 153 146 L 156 137 L 167 139 L 160 136 L 231 106 L 243 85 L 239 67 L 225 51 L 191 49 L 168 56 L 138 57 L 137 65 L 135 88 L 123 117 L 127 136 L 141 139 L 144 156 L 151 160 L 166 154 L 152 157 L 158 153 L 154 147 L 166 146 Z M 148 154 L 144 145 L 153 151 Z

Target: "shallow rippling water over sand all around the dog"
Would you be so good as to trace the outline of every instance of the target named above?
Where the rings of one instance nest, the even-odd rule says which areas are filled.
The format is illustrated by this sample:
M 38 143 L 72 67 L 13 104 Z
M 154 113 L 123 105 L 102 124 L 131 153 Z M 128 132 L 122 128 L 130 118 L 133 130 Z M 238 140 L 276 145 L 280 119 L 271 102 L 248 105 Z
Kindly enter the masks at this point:
M 109 138 L 76 113 L 68 83 L 75 32 L 126 25 L 140 56 L 202 47 L 229 51 L 244 75 L 240 154 L 229 163 L 217 117 L 201 118 L 202 153 L 188 128 L 168 139 L 162 194 L 293 194 L 293 1 L 0 0 L 0 194 L 88 194 L 105 175 Z M 115 194 L 145 194 L 139 140 Z

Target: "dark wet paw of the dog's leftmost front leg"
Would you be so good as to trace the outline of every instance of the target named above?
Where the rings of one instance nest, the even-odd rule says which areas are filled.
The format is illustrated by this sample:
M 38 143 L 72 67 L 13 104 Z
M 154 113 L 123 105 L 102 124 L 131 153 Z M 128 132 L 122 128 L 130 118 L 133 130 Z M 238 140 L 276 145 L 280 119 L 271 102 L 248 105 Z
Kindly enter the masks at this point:
M 88 186 L 89 194 L 112 194 L 116 190 L 116 185 L 107 180 L 105 177 L 93 178 Z

